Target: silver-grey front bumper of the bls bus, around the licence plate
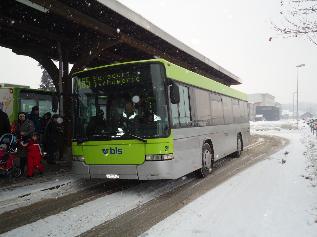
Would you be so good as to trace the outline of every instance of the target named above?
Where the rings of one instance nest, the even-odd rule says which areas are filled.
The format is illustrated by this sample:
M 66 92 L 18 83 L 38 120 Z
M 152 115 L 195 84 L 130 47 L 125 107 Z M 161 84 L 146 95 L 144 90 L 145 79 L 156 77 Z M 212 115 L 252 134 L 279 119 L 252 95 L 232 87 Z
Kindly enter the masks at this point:
M 141 165 L 88 165 L 73 161 L 76 177 L 107 179 L 107 174 L 118 174 L 119 179 L 176 179 L 174 159 L 168 161 L 145 161 Z

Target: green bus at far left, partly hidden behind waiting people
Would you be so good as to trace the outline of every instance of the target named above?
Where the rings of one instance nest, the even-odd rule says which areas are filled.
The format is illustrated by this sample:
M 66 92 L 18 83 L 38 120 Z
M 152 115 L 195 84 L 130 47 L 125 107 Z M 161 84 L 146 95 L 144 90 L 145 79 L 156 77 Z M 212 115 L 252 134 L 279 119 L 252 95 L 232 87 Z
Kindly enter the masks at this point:
M 0 102 L 3 102 L 3 112 L 8 114 L 11 130 L 14 130 L 18 113 L 23 111 L 28 115 L 33 106 L 40 108 L 40 117 L 52 112 L 52 93 L 54 91 L 31 89 L 29 86 L 0 83 Z

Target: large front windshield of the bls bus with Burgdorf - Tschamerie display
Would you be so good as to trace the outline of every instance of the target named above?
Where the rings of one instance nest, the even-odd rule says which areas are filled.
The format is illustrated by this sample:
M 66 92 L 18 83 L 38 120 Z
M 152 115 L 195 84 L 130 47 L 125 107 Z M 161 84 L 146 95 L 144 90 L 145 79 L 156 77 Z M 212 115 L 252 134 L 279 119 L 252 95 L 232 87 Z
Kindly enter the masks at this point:
M 164 64 L 99 67 L 73 76 L 73 140 L 169 134 Z

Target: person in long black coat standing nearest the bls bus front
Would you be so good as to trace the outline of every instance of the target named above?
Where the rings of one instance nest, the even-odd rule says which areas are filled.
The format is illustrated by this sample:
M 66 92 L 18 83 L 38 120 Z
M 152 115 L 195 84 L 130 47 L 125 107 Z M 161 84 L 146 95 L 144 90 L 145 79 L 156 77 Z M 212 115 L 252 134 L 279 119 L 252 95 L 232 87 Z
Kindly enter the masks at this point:
M 43 135 L 43 143 L 47 146 L 47 163 L 48 164 L 56 164 L 54 161 L 55 153 L 56 153 L 56 141 L 57 141 L 57 133 L 61 130 L 57 123 L 57 119 L 59 118 L 58 114 L 53 114 L 52 118 L 46 124 L 44 135 Z

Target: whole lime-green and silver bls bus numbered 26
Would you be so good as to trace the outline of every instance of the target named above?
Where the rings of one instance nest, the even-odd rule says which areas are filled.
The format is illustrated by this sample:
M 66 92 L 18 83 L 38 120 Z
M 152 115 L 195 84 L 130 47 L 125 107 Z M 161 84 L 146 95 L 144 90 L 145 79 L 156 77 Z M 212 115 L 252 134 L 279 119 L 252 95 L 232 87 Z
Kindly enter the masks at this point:
M 246 94 L 163 59 L 74 73 L 72 96 L 77 177 L 203 178 L 250 141 Z

